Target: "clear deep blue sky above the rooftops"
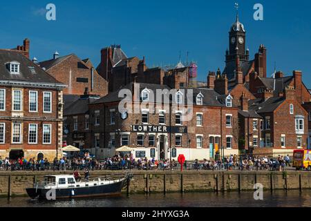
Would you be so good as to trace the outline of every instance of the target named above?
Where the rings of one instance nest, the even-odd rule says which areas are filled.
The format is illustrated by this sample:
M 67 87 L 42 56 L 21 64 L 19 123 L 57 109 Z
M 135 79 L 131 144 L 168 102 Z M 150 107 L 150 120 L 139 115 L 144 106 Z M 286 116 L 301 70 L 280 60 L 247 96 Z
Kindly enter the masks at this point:
M 188 51 L 189 60 L 198 62 L 198 79 L 205 80 L 209 70 L 225 66 L 236 1 L 2 1 L 0 48 L 13 48 L 28 37 L 30 56 L 39 61 L 57 50 L 88 57 L 97 66 L 101 48 L 121 44 L 129 57 L 146 56 L 149 67 L 177 64 L 180 51 L 185 61 Z M 48 3 L 55 3 L 57 21 L 46 20 Z M 311 88 L 311 1 L 238 3 L 251 57 L 264 44 L 269 75 L 274 62 L 285 75 L 302 70 Z M 263 21 L 253 19 L 255 3 L 263 4 Z

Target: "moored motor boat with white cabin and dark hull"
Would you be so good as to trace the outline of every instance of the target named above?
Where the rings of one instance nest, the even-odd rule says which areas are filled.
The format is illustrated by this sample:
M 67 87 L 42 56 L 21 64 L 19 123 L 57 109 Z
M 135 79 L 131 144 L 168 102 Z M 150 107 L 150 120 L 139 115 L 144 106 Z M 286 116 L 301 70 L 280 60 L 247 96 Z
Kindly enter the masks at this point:
M 127 173 L 115 180 L 106 176 L 77 182 L 73 175 L 46 175 L 44 182 L 35 183 L 26 191 L 30 198 L 44 200 L 120 195 L 131 177 L 132 175 Z

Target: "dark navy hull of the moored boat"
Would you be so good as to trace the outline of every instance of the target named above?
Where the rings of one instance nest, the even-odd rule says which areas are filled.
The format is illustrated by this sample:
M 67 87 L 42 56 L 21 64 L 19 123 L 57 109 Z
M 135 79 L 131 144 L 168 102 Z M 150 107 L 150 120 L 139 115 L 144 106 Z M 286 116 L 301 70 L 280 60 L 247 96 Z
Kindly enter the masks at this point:
M 90 198 L 120 195 L 123 187 L 124 181 L 120 181 L 100 186 L 57 188 L 53 189 L 53 191 L 51 191 L 51 189 L 29 188 L 26 189 L 26 191 L 32 199 L 54 200 L 60 198 Z

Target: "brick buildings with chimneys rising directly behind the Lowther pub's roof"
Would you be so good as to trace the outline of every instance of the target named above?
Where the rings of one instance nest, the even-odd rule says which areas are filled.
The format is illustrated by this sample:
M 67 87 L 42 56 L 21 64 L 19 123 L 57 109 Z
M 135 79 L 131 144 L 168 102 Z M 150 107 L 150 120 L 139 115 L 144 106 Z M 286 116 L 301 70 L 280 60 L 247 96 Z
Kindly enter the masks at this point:
M 196 66 L 194 63 L 184 66 L 181 62 L 176 67 L 148 68 L 145 58 L 126 57 L 120 46 L 111 46 L 101 51 L 98 73 L 109 81 L 109 91 L 119 90 L 132 82 L 167 85 L 176 87 L 195 87 Z

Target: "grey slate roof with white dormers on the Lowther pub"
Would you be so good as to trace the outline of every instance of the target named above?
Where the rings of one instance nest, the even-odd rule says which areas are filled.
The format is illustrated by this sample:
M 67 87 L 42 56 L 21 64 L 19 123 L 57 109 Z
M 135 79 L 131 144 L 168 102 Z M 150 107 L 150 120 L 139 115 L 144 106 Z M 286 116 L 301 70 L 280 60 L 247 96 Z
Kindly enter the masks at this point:
M 133 83 L 128 84 L 128 85 L 124 86 L 121 89 L 132 90 L 132 87 L 133 87 Z M 153 91 L 153 93 L 155 94 L 154 95 L 155 99 L 156 99 L 156 90 L 158 90 L 158 89 L 161 89 L 161 90 L 164 90 L 164 89 L 171 90 L 171 88 L 169 88 L 169 86 L 166 86 L 166 85 L 140 83 L 140 93 L 142 92 L 142 90 L 144 90 L 146 88 L 148 90 Z M 194 102 L 194 105 L 196 105 L 196 97 L 197 97 L 197 95 L 199 95 L 201 93 L 203 95 L 203 106 L 223 106 L 223 107 L 225 107 L 225 104 L 220 102 L 220 99 L 218 99 L 221 95 L 216 93 L 215 90 L 208 89 L 208 88 L 191 88 L 191 89 L 180 88 L 180 91 L 184 94 L 184 96 L 188 94 L 188 90 L 192 90 L 193 91 L 193 102 Z M 109 103 L 109 102 L 120 102 L 123 98 L 122 97 L 118 97 L 118 94 L 119 94 L 119 91 L 115 91 L 113 93 L 110 93 L 109 95 L 106 95 L 105 97 L 102 97 L 101 99 L 96 100 L 92 104 L 103 104 L 103 103 Z M 164 96 L 166 96 L 166 98 L 169 98 L 169 95 L 164 95 Z M 162 98 L 162 100 L 163 100 L 163 98 Z M 187 97 L 185 99 L 185 103 L 187 104 Z

